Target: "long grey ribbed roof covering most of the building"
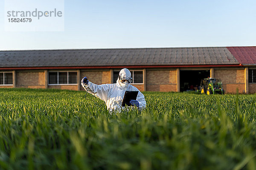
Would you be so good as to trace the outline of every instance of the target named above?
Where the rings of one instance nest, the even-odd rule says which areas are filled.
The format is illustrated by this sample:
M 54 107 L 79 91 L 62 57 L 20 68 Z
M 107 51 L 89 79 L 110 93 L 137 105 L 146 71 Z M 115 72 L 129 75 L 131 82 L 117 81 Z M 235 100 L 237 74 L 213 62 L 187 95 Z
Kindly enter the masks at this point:
M 0 51 L 0 68 L 235 64 L 225 47 Z

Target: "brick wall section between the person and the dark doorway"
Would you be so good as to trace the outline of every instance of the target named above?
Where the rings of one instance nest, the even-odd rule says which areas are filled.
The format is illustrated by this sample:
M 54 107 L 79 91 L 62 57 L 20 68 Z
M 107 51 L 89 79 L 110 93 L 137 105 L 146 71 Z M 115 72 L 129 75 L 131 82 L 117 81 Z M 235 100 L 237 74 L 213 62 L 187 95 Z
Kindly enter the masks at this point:
M 177 71 L 167 69 L 146 70 L 147 91 L 177 91 Z

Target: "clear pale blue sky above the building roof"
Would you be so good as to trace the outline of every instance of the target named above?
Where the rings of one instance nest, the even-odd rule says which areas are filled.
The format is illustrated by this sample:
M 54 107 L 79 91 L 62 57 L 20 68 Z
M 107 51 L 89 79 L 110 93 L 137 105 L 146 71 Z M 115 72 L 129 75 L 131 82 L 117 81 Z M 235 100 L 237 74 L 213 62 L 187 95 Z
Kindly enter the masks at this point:
M 256 0 L 65 0 L 64 31 L 4 31 L 0 50 L 255 46 Z

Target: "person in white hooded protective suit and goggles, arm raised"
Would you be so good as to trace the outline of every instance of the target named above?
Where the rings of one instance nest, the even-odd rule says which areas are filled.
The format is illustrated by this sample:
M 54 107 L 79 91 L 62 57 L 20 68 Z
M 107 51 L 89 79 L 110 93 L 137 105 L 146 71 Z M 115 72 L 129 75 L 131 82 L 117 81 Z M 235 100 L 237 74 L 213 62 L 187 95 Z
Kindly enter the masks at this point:
M 88 93 L 102 99 L 109 111 L 124 109 L 122 107 L 122 99 L 125 95 L 125 91 L 139 91 L 133 85 L 130 85 L 132 82 L 131 72 L 127 68 L 123 68 L 119 72 L 118 79 L 114 84 L 103 84 L 96 85 L 92 82 L 89 82 L 87 77 L 84 77 L 81 80 L 82 87 L 88 91 Z M 131 105 L 137 106 L 139 110 L 142 110 L 146 107 L 146 101 L 144 95 L 139 91 L 137 99 L 130 101 Z

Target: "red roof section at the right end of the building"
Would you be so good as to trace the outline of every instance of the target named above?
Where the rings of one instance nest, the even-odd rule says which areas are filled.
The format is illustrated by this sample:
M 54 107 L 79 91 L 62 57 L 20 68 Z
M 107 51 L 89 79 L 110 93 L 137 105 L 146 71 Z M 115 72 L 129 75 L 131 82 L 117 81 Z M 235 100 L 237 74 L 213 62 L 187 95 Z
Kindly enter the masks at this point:
M 256 47 L 227 47 L 242 65 L 256 65 Z

